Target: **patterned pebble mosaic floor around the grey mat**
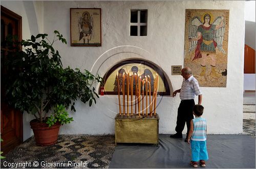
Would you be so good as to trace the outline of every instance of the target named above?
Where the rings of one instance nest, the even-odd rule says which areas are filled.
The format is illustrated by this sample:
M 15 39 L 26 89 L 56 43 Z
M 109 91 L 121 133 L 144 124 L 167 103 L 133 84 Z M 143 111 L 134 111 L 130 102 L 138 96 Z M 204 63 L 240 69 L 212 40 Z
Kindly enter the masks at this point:
M 255 119 L 243 120 L 243 134 L 255 138 Z M 59 135 L 58 142 L 47 147 L 36 146 L 31 137 L 1 160 L 1 168 L 11 168 L 4 166 L 5 161 L 31 162 L 26 168 L 109 168 L 114 150 L 114 135 Z

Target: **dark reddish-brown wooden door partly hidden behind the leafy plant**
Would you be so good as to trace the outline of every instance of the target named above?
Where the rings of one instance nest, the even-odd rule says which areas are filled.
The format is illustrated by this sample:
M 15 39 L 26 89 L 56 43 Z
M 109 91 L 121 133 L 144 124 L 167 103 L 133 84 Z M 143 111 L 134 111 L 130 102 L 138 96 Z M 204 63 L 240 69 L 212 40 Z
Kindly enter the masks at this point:
M 6 154 L 23 142 L 22 113 L 5 101 L 4 76 L 7 68 L 4 66 L 8 48 L 2 43 L 7 35 L 17 35 L 22 39 L 22 17 L 1 6 L 1 151 Z

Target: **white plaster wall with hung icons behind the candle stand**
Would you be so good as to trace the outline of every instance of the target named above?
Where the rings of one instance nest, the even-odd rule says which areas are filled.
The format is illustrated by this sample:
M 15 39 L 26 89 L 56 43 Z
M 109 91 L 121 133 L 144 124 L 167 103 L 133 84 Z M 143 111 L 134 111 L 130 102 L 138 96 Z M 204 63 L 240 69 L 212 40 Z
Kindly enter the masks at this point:
M 70 8 L 101 8 L 101 47 L 70 46 Z M 130 9 L 148 10 L 146 37 L 130 37 Z M 123 59 L 143 58 L 159 65 L 172 81 L 172 88 L 177 90 L 182 77 L 171 75 L 170 69 L 172 65 L 184 64 L 185 9 L 230 10 L 227 87 L 202 88 L 202 104 L 208 133 L 242 133 L 244 2 L 45 1 L 44 32 L 52 36 L 53 31 L 58 30 L 66 37 L 68 45 L 56 43 L 55 46 L 60 51 L 63 66 L 88 69 L 103 76 Z M 70 111 L 74 122 L 63 125 L 60 134 L 114 134 L 116 102 L 117 96 L 106 95 L 100 96 L 91 107 L 77 101 L 77 111 Z M 159 133 L 175 133 L 179 96 L 158 97 L 158 102 Z

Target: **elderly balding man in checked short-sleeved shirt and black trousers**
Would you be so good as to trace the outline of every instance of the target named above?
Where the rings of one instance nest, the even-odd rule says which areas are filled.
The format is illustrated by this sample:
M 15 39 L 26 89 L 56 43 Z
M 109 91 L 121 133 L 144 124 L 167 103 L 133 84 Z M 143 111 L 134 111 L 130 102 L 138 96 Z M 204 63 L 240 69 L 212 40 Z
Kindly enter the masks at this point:
M 176 90 L 173 93 L 173 97 L 175 97 L 177 93 L 180 93 L 181 102 L 178 108 L 177 125 L 175 128 L 177 133 L 170 135 L 172 138 L 182 138 L 182 131 L 185 127 L 185 123 L 187 124 L 188 135 L 190 121 L 191 119 L 194 119 L 193 106 L 195 105 L 195 95 L 198 96 L 198 104 L 201 104 L 202 102 L 202 93 L 197 79 L 192 75 L 191 69 L 188 67 L 183 68 L 181 70 L 181 75 L 185 80 L 182 82 L 181 89 Z M 187 142 L 187 136 L 185 142 Z

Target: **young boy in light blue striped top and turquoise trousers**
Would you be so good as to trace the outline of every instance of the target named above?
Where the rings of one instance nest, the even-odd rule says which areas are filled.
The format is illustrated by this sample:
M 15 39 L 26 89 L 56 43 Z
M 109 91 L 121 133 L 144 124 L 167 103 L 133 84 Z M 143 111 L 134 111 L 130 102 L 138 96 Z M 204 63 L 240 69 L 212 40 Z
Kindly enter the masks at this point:
M 191 145 L 192 161 L 190 164 L 197 167 L 197 162 L 201 166 L 205 166 L 205 161 L 208 160 L 208 153 L 206 149 L 206 120 L 202 118 L 204 107 L 196 104 L 193 107 L 193 114 L 195 119 L 190 121 L 190 130 L 188 133 L 187 143 Z

